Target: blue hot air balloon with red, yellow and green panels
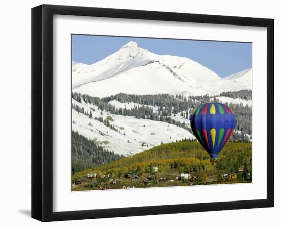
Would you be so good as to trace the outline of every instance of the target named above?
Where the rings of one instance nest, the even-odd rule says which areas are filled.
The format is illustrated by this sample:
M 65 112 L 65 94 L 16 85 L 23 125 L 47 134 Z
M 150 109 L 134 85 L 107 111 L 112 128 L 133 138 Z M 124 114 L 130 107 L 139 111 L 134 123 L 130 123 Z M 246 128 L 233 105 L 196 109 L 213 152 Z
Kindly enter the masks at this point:
M 233 110 L 221 103 L 205 103 L 196 108 L 190 117 L 191 129 L 207 150 L 212 162 L 232 136 L 236 117 Z

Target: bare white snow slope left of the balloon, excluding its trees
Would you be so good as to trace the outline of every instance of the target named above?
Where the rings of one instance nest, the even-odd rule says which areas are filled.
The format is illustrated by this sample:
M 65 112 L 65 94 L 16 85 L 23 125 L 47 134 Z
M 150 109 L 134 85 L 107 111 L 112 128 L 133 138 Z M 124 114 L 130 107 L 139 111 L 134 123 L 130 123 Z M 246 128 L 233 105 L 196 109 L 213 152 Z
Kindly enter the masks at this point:
M 133 116 L 113 115 L 106 111 L 101 114 L 98 107 L 89 103 L 86 104 L 83 100 L 82 103 L 79 103 L 72 99 L 72 103 L 84 107 L 85 111 L 90 111 L 90 108 L 95 109 L 95 111 L 92 111 L 92 119 L 72 109 L 72 130 L 91 140 L 98 141 L 107 150 L 118 154 L 133 155 L 158 146 L 162 141 L 170 143 L 185 138 L 194 138 L 190 132 L 173 124 L 148 119 L 136 119 Z M 114 124 L 120 132 L 114 131 L 106 127 L 104 123 L 94 119 L 101 116 L 104 119 L 111 116 L 114 121 L 110 122 L 110 124 Z M 189 123 L 188 119 L 183 120 Z M 142 147 L 142 142 L 146 142 L 148 146 Z

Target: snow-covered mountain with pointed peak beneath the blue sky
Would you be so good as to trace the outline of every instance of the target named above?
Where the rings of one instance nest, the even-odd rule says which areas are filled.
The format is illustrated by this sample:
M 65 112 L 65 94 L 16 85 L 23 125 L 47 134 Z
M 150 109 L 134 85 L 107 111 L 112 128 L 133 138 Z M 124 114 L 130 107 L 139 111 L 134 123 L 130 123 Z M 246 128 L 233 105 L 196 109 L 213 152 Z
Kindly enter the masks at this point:
M 92 65 L 72 65 L 72 89 L 91 96 L 127 94 L 215 95 L 252 89 L 252 70 L 221 79 L 185 57 L 157 55 L 129 42 Z

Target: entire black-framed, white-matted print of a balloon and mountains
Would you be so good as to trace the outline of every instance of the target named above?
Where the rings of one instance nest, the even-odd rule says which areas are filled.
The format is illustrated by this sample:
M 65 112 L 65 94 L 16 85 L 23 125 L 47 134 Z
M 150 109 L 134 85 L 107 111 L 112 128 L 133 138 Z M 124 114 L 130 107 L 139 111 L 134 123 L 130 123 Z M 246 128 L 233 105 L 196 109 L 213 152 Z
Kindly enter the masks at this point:
M 32 217 L 273 207 L 273 24 L 33 8 Z

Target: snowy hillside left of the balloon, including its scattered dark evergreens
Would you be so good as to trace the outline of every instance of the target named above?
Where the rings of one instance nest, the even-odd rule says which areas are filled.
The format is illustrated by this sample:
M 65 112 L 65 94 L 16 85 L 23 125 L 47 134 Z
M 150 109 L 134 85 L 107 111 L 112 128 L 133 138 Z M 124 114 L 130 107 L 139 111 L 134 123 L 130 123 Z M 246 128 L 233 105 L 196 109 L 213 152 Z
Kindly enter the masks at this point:
M 172 119 L 168 123 L 164 116 L 160 119 L 155 111 L 152 114 L 151 107 L 153 106 L 142 106 L 129 111 L 115 108 L 99 98 L 73 93 L 72 130 L 99 141 L 107 150 L 125 156 L 158 146 L 161 142 L 194 138 L 190 131 L 183 128 L 189 123 L 186 117 L 177 113 L 173 117 L 181 118 L 181 124 L 176 124 L 176 120 Z

